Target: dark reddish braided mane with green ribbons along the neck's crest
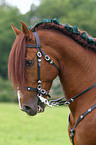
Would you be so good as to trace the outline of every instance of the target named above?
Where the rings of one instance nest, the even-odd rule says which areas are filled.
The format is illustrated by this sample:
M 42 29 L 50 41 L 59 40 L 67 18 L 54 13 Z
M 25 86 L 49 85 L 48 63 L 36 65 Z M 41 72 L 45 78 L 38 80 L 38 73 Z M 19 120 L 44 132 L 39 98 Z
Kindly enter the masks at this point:
M 78 29 L 77 25 L 71 26 L 69 24 L 61 24 L 57 18 L 45 19 L 42 22 L 36 23 L 28 27 L 29 30 L 34 31 L 37 29 L 52 29 L 58 30 L 63 34 L 71 37 L 77 43 L 96 52 L 96 38 L 93 38 L 87 34 L 86 31 L 81 31 Z

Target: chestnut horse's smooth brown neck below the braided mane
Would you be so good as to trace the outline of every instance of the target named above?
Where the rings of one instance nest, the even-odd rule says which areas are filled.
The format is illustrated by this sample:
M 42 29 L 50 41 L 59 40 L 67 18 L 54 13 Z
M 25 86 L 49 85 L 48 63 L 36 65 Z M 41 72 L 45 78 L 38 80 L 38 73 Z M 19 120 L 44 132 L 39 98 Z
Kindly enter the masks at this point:
M 96 54 L 94 52 L 54 30 L 40 31 L 40 40 L 45 45 L 45 49 L 46 45 L 49 45 L 50 49 L 55 50 L 58 54 L 60 80 L 66 99 L 74 97 L 96 83 Z M 73 115 L 76 114 L 76 110 L 80 109 L 81 104 L 90 107 L 95 100 L 94 96 L 95 89 L 92 89 L 69 105 Z M 82 107 L 82 109 L 84 108 Z M 82 109 L 81 112 L 79 111 L 80 113 L 82 113 Z

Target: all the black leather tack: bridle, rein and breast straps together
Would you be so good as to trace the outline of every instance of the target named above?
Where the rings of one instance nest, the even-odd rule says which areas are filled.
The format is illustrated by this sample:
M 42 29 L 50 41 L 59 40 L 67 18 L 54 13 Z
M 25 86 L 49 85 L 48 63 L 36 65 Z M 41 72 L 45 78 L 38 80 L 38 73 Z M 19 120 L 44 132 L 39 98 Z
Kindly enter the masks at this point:
M 36 91 L 37 92 L 37 97 L 38 99 L 43 102 L 44 104 L 48 105 L 49 107 L 54 107 L 54 106 L 62 106 L 65 104 L 70 104 L 71 102 L 74 101 L 74 99 L 78 98 L 79 96 L 83 95 L 84 93 L 88 92 L 89 90 L 91 90 L 92 88 L 96 87 L 96 84 L 90 86 L 88 89 L 84 90 L 83 92 L 81 92 L 80 94 L 76 95 L 73 98 L 70 98 L 68 100 L 63 100 L 65 97 L 59 98 L 57 100 L 50 100 L 48 101 L 46 98 L 42 97 L 42 95 L 48 96 L 49 98 L 51 98 L 51 96 L 49 95 L 49 93 L 45 90 L 42 89 L 41 87 L 41 79 L 40 79 L 40 68 L 41 68 L 41 56 L 43 55 L 45 60 L 50 63 L 51 65 L 53 65 L 57 70 L 58 73 L 60 74 L 60 69 L 58 68 L 58 66 L 50 59 L 50 57 L 48 55 L 45 54 L 45 52 L 41 49 L 41 44 L 40 44 L 40 39 L 38 36 L 38 33 L 36 31 L 33 31 L 33 34 L 35 36 L 36 39 L 36 45 L 32 45 L 32 44 L 27 44 L 26 47 L 27 48 L 37 48 L 37 61 L 38 61 L 38 85 L 37 88 L 33 88 L 33 87 L 26 87 L 27 91 Z M 89 113 L 91 113 L 94 109 L 96 108 L 96 104 L 93 105 L 92 107 L 90 107 L 87 111 L 85 111 L 77 120 L 75 126 L 73 127 L 73 129 L 71 129 L 70 127 L 70 114 L 68 117 L 68 122 L 69 122 L 69 131 L 70 131 L 70 137 L 71 137 L 71 141 L 74 145 L 74 135 L 75 135 L 75 128 L 77 127 L 77 125 L 86 117 L 86 115 L 88 115 Z

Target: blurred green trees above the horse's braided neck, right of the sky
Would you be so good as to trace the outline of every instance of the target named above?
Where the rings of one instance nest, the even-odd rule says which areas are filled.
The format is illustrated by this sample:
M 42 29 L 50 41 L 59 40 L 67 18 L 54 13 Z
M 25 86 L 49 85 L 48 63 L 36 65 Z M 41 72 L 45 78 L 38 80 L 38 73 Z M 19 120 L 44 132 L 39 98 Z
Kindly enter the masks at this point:
M 96 1 L 95 0 L 41 0 L 38 7 L 32 7 L 27 13 L 29 21 L 45 18 L 59 18 L 61 23 L 77 25 L 80 29 L 96 36 Z

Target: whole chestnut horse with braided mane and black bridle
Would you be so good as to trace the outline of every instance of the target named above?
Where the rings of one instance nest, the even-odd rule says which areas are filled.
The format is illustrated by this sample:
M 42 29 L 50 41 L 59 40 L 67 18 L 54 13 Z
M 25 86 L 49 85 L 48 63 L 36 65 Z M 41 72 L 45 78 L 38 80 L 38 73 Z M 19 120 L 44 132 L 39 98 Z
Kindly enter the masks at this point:
M 44 112 L 46 104 L 68 104 L 69 138 L 73 145 L 96 145 L 96 38 L 77 25 L 43 19 L 16 34 L 8 61 L 8 76 L 19 106 L 28 115 Z M 66 100 L 48 102 L 59 76 Z

